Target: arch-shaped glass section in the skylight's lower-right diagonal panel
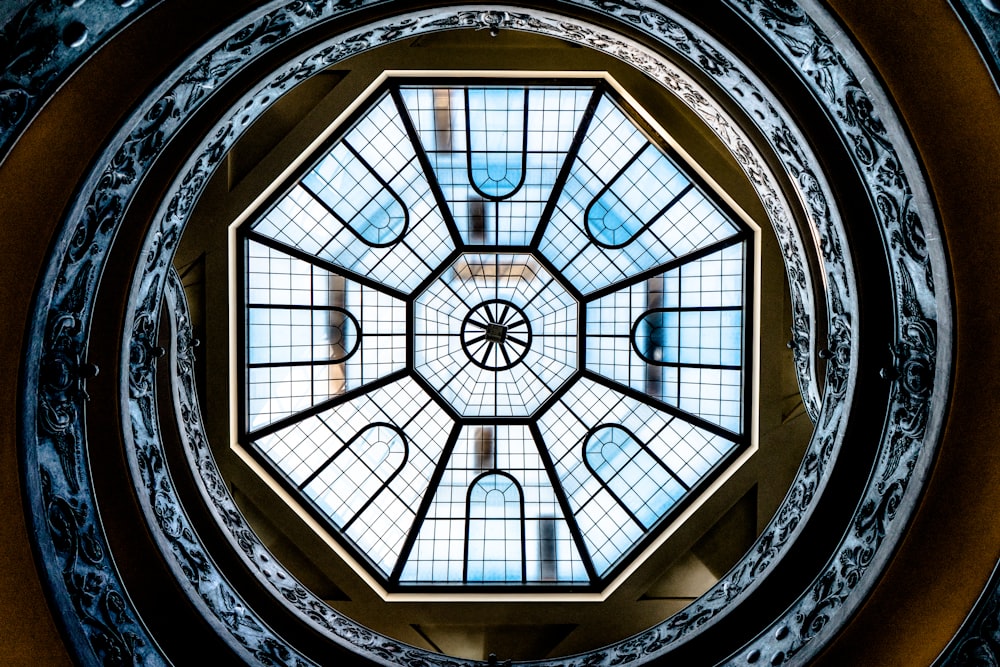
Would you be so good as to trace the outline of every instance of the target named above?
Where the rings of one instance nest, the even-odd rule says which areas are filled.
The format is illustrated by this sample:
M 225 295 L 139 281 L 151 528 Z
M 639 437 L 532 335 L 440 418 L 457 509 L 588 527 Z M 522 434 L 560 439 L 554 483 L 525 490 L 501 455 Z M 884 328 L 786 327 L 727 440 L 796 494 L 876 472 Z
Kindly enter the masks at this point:
M 629 516 L 649 529 L 688 490 L 645 443 L 621 426 L 599 426 L 584 441 L 583 460 Z

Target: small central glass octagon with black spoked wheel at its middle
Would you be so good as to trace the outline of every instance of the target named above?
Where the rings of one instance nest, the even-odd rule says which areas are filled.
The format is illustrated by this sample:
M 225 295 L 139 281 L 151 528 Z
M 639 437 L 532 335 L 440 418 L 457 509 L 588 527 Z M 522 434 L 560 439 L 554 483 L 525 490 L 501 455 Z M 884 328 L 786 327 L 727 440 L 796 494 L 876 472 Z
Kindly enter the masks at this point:
M 527 417 L 578 366 L 578 307 L 530 254 L 465 253 L 417 298 L 414 367 L 467 417 Z

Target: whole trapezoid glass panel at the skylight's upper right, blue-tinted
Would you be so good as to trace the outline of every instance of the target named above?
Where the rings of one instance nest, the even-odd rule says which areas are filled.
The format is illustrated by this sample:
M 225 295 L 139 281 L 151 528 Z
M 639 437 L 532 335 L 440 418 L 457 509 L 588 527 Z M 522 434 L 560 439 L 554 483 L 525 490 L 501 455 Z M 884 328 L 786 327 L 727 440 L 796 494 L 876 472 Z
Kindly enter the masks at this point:
M 738 231 L 605 95 L 539 248 L 588 294 Z

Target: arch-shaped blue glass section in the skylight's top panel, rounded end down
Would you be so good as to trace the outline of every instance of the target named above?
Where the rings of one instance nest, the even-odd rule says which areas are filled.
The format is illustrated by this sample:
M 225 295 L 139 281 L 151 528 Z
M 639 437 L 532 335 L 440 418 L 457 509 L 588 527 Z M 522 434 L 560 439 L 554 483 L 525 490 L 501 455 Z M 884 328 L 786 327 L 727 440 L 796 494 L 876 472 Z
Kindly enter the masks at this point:
M 524 184 L 526 97 L 523 88 L 465 89 L 469 183 L 484 199 L 506 199 Z

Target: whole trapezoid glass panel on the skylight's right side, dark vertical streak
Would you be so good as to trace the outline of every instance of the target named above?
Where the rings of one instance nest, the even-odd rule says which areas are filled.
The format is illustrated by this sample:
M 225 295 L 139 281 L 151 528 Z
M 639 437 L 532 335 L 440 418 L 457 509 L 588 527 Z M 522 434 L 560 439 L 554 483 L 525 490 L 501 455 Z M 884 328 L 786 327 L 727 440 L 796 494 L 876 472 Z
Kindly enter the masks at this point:
M 587 367 L 738 433 L 746 242 L 587 304 Z

